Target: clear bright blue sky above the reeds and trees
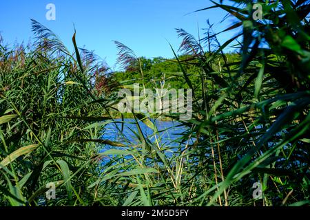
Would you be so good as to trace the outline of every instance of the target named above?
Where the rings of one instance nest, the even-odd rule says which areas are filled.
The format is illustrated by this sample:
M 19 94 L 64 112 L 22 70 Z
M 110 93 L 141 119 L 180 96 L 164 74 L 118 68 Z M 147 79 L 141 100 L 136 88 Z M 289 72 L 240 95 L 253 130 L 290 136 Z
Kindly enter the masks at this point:
M 56 21 L 45 19 L 48 3 L 56 6 Z M 220 23 L 225 12 L 219 9 L 188 14 L 212 5 L 209 0 L 11 0 L 1 1 L 0 5 L 0 32 L 5 43 L 28 43 L 33 36 L 30 19 L 35 19 L 73 51 L 71 40 L 75 25 L 78 46 L 94 50 L 112 68 L 117 57 L 112 41 L 124 43 L 138 56 L 172 58 L 167 41 L 176 50 L 181 41 L 175 28 L 197 36 L 198 25 L 206 28 L 207 19 L 214 23 L 216 31 L 231 23 L 231 19 Z M 227 34 L 219 36 L 221 43 L 227 37 Z

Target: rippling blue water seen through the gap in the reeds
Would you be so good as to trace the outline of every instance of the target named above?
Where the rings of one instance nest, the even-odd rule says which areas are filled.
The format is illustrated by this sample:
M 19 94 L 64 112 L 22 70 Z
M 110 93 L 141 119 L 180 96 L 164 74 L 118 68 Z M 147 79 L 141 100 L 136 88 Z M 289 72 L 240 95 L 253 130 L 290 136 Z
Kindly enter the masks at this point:
M 189 128 L 178 122 L 155 120 L 154 125 L 156 126 L 157 132 L 154 132 L 143 122 L 138 122 L 138 125 L 141 127 L 145 140 L 147 140 L 149 144 L 156 146 L 167 158 L 180 155 L 187 144 L 191 145 L 195 141 L 194 138 L 187 137 Z M 125 119 L 124 121 L 116 120 L 115 123 L 112 122 L 107 124 L 101 138 L 103 140 L 125 144 L 125 149 L 141 149 L 142 144 L 140 137 L 141 135 L 138 133 L 136 121 L 134 119 Z M 124 147 L 104 146 L 104 148 L 101 148 L 101 153 L 112 148 L 124 150 Z M 125 158 L 131 159 L 132 156 L 127 155 Z M 111 157 L 105 157 L 102 160 L 102 164 L 106 164 L 110 159 Z

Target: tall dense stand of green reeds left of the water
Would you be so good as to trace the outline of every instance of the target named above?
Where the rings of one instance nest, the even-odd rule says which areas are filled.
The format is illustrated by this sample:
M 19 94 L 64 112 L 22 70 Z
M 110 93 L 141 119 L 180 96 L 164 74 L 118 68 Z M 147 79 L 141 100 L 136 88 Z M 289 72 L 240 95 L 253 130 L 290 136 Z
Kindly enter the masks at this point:
M 83 139 L 99 139 L 101 131 L 84 128 L 92 123 L 89 116 L 109 118 L 104 101 L 92 103 L 103 95 L 90 78 L 107 73 L 99 73 L 100 63 L 87 63 L 86 56 L 76 61 L 50 30 L 36 21 L 32 25 L 34 45 L 0 50 L 0 185 L 7 189 L 0 203 L 92 205 L 87 185 L 99 175 L 92 160 L 99 146 Z M 62 184 L 57 199 L 47 201 L 45 186 L 51 182 Z

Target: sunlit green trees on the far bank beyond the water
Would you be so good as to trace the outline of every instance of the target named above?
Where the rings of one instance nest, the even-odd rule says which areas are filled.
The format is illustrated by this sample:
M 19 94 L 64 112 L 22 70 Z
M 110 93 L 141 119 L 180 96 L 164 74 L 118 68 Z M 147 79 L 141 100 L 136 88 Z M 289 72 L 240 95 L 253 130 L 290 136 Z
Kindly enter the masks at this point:
M 210 56 L 205 54 L 205 56 Z M 240 56 L 234 53 L 225 54 L 228 63 L 234 63 L 234 61 L 240 61 Z M 160 82 L 165 81 L 165 88 L 183 89 L 189 88 L 186 84 L 185 78 L 183 78 L 182 68 L 191 79 L 194 89 L 201 91 L 200 77 L 196 76 L 199 68 L 196 65 L 195 58 L 192 55 L 180 55 L 178 56 L 180 61 L 183 61 L 183 66 L 180 67 L 178 61 L 175 58 L 145 58 L 139 57 L 135 62 L 130 63 L 123 71 L 113 72 L 113 78 L 117 82 L 126 85 L 132 83 L 138 83 L 140 85 L 145 85 L 147 88 L 156 88 Z M 139 61 L 141 62 L 141 69 L 143 72 L 143 79 L 141 78 L 141 69 Z M 188 61 L 188 62 L 185 62 Z M 192 62 L 189 62 L 192 61 Z M 217 61 L 212 62 L 213 67 L 216 71 L 221 71 L 221 67 L 225 65 L 223 57 L 218 57 Z

